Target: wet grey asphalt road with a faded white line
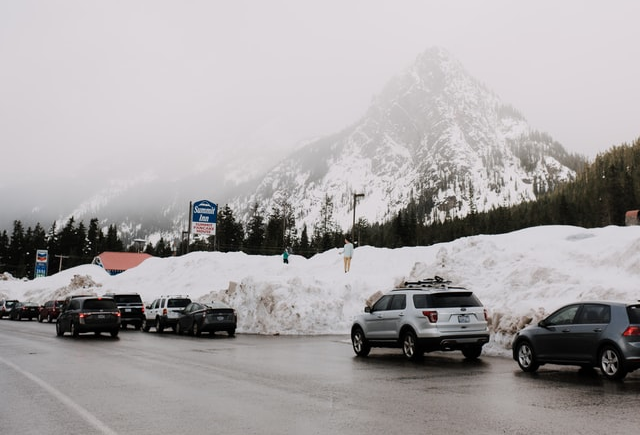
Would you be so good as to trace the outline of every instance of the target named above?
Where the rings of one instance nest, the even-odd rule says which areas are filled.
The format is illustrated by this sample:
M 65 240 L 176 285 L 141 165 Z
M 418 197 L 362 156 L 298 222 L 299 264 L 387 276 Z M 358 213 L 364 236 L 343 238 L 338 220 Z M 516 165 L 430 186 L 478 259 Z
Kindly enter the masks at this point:
M 0 320 L 1 434 L 623 434 L 639 410 L 640 372 L 360 359 L 346 336 L 59 338 L 54 324 Z

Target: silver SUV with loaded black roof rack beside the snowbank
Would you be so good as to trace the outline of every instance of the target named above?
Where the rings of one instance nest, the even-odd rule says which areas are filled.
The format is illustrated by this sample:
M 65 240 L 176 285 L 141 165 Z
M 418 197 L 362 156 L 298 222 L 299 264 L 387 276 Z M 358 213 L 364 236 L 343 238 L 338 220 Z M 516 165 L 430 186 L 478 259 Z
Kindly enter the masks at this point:
M 409 359 L 436 350 L 478 358 L 489 342 L 487 310 L 472 291 L 450 284 L 438 276 L 405 282 L 365 307 L 351 327 L 356 355 L 365 357 L 372 347 L 400 347 Z

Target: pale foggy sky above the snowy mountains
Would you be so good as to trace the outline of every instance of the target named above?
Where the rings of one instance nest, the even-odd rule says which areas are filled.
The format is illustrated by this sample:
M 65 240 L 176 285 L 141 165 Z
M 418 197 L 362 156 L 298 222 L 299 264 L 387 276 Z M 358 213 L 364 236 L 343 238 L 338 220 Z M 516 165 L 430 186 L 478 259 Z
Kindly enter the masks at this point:
M 640 2 L 0 0 L 0 186 L 249 173 L 439 46 L 594 157 L 640 136 Z

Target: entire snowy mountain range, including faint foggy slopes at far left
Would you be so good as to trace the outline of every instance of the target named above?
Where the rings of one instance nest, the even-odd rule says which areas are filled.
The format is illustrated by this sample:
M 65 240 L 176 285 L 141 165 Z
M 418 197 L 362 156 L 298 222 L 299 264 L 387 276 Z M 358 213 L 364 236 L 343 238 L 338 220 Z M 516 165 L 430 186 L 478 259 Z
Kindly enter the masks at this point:
M 14 198 L 0 218 L 48 228 L 54 221 L 61 227 L 71 216 L 85 224 L 98 217 L 103 227 L 118 225 L 125 241 L 142 237 L 155 243 L 161 236 L 180 238 L 191 200 L 228 203 L 245 223 L 256 203 L 264 216 L 272 207 L 287 207 L 296 225 L 306 223 L 310 230 L 330 203 L 332 224 L 348 230 L 354 194 L 364 195 L 358 219 L 381 222 L 415 201 L 431 222 L 535 199 L 572 179 L 580 163 L 548 135 L 533 131 L 517 110 L 440 48 L 425 51 L 390 80 L 350 127 L 289 155 L 276 148 L 269 159 L 279 163 L 264 172 L 256 171 L 257 159 L 239 154 L 239 164 L 218 162 L 191 174 L 146 168 L 104 186 L 90 176 L 34 183 L 20 192 L 0 186 L 0 196 Z M 250 174 L 257 175 L 248 180 Z

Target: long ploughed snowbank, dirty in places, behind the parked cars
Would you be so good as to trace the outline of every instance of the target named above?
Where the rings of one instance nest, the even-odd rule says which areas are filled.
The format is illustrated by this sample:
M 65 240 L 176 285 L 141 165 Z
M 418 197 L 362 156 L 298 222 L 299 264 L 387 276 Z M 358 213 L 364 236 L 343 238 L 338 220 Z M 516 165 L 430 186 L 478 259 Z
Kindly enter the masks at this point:
M 344 273 L 337 249 L 311 259 L 194 252 L 151 258 L 110 276 L 85 265 L 31 281 L 0 280 L 0 298 L 44 303 L 68 294 L 137 292 L 227 302 L 240 333 L 348 334 L 367 301 L 405 280 L 439 275 L 473 290 L 489 311 L 488 350 L 506 353 L 513 334 L 575 300 L 634 301 L 640 227 L 535 227 L 426 247 L 356 249 Z

